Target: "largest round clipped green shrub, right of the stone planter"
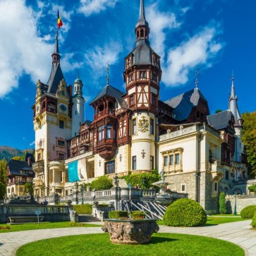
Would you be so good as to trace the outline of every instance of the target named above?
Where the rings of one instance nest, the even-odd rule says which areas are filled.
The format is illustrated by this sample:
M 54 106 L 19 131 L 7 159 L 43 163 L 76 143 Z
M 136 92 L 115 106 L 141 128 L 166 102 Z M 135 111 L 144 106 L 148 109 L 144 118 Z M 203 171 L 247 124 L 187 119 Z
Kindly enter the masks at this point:
M 207 214 L 194 200 L 176 200 L 166 209 L 163 218 L 166 226 L 201 226 L 207 221 Z

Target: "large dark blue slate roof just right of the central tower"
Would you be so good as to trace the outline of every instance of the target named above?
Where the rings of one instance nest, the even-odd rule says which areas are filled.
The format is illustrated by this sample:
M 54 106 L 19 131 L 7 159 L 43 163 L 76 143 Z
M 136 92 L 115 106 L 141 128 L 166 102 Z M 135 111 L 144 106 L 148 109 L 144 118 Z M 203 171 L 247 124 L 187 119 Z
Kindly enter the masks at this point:
M 206 102 L 204 95 L 197 88 L 184 92 L 181 95 L 166 100 L 166 104 L 171 106 L 173 110 L 173 118 L 177 121 L 183 121 L 190 115 L 194 106 L 197 106 L 199 99 L 202 98 Z

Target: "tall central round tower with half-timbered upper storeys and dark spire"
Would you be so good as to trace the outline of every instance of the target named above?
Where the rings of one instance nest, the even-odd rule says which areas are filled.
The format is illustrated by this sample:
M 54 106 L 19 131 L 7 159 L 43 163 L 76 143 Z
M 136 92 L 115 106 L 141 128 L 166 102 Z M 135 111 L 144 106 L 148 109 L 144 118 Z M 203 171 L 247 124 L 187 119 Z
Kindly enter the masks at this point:
M 140 1 L 139 20 L 135 27 L 135 47 L 126 57 L 125 71 L 128 107 L 132 110 L 132 171 L 155 169 L 156 115 L 161 80 L 160 57 L 150 47 L 150 27 Z

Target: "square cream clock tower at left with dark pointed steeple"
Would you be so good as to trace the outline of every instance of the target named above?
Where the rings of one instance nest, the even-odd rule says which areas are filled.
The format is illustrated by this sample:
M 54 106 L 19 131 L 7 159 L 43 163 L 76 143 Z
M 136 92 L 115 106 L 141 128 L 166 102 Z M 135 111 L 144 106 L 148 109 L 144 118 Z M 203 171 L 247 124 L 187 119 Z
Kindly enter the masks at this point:
M 35 193 L 49 195 L 49 187 L 61 183 L 62 173 L 51 173 L 49 161 L 67 157 L 67 142 L 71 138 L 71 88 L 66 86 L 61 71 L 58 32 L 51 54 L 51 74 L 47 84 L 37 82 L 34 110 L 35 130 Z M 64 171 L 64 170 L 63 170 Z

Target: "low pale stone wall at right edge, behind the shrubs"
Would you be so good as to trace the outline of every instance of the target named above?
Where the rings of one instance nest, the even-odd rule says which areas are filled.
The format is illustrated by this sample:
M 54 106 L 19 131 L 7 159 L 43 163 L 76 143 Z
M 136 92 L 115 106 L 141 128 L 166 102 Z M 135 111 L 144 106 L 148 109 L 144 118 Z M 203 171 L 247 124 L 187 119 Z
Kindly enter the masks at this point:
M 236 199 L 234 196 L 226 197 L 226 205 L 228 213 L 233 213 L 236 204 L 236 213 L 240 214 L 241 210 L 248 205 L 256 205 L 255 197 L 245 197 L 243 195 L 238 196 Z

